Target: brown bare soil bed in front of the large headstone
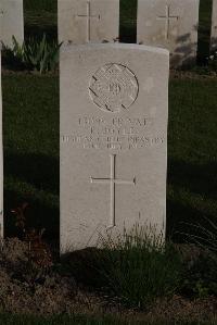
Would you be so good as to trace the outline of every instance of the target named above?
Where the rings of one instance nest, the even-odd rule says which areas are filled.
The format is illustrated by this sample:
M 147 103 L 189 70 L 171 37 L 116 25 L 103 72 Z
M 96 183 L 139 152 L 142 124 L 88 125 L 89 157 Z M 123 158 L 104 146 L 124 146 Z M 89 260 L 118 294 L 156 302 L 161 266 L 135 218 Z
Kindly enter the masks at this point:
M 217 320 L 217 298 L 161 299 L 145 312 L 129 310 L 118 300 L 78 286 L 60 265 L 38 270 L 28 262 L 28 247 L 16 238 L 7 239 L 0 251 L 0 311 L 26 314 L 115 314 L 123 318 L 166 321 Z

